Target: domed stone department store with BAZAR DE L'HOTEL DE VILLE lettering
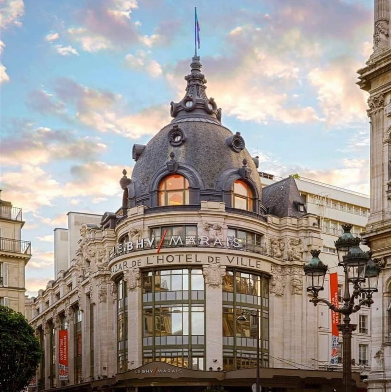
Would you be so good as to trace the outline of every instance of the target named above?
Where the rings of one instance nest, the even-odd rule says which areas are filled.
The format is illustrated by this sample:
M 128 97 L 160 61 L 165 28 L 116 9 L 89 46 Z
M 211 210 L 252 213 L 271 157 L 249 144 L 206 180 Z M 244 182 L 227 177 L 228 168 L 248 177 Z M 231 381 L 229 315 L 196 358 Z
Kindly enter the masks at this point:
M 318 216 L 293 178 L 262 189 L 201 67 L 194 57 L 171 123 L 133 146 L 116 212 L 69 212 L 55 230 L 56 280 L 26 305 L 44 352 L 36 389 L 250 390 L 259 338 L 262 390 L 340 390 L 303 282 Z

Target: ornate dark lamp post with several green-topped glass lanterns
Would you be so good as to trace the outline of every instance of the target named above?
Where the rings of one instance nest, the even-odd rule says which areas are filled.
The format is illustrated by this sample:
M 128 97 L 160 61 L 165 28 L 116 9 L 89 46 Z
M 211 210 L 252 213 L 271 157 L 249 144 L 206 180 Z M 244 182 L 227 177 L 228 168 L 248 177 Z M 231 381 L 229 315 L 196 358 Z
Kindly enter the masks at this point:
M 350 315 L 361 309 L 362 305 L 370 307 L 373 304 L 372 294 L 377 292 L 377 283 L 380 272 L 373 260 L 371 252 L 360 249 L 360 238 L 353 237 L 350 230 L 352 225 L 342 225 L 344 233 L 335 241 L 338 253 L 338 266 L 344 267 L 345 288 L 344 305 L 336 307 L 323 298 L 318 298 L 319 291 L 323 290 L 324 277 L 327 266 L 319 259 L 320 250 L 311 250 L 312 258 L 304 266 L 307 279 L 307 291 L 312 292 L 312 302 L 315 306 L 318 302 L 325 303 L 331 310 L 344 315 L 343 323 L 338 324 L 338 331 L 342 332 L 342 391 L 352 390 L 352 332 L 357 325 L 350 323 Z M 349 283 L 353 284 L 353 293 L 349 293 Z M 365 293 L 366 298 L 355 305 L 355 299 L 360 293 Z

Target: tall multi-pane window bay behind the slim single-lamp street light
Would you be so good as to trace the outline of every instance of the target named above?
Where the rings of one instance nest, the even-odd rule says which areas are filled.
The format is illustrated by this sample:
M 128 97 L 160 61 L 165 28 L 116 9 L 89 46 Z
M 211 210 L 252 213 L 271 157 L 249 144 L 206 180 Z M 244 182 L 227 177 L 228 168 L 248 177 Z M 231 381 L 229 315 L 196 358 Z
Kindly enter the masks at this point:
M 245 313 L 247 321 L 238 323 Z M 257 330 L 258 314 L 259 330 Z M 261 366 L 269 363 L 269 281 L 267 276 L 227 270 L 223 278 L 223 370 L 256 367 L 256 337 Z

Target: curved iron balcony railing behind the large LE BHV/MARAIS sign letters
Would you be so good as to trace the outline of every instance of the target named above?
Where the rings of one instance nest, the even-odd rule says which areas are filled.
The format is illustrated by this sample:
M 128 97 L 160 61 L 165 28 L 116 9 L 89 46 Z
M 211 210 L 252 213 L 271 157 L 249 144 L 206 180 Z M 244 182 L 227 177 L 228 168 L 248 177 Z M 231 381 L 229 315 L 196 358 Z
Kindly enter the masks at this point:
M 112 260 L 117 256 L 132 253 L 138 250 L 186 247 L 244 250 L 247 252 L 254 252 L 267 256 L 271 255 L 270 250 L 268 251 L 264 242 L 261 243 L 261 241 L 251 241 L 240 238 L 228 238 L 227 241 L 206 241 L 205 237 L 200 236 L 167 236 L 163 241 L 159 237 L 138 240 L 140 244 L 139 246 L 137 246 L 136 240 L 130 242 L 132 243 L 131 246 L 128 246 L 128 241 L 119 244 L 119 246 L 116 245 L 115 248 L 109 253 L 109 259 Z

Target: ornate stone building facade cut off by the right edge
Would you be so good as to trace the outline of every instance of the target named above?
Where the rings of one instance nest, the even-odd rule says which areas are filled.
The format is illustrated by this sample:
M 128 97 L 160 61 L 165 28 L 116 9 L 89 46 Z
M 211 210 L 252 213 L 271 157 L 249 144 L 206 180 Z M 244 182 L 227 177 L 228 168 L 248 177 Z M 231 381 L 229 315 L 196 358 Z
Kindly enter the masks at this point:
M 368 390 L 391 389 L 391 2 L 375 0 L 373 54 L 360 69 L 358 85 L 369 92 L 371 208 L 367 241 L 382 270 L 373 296 L 371 372 Z

